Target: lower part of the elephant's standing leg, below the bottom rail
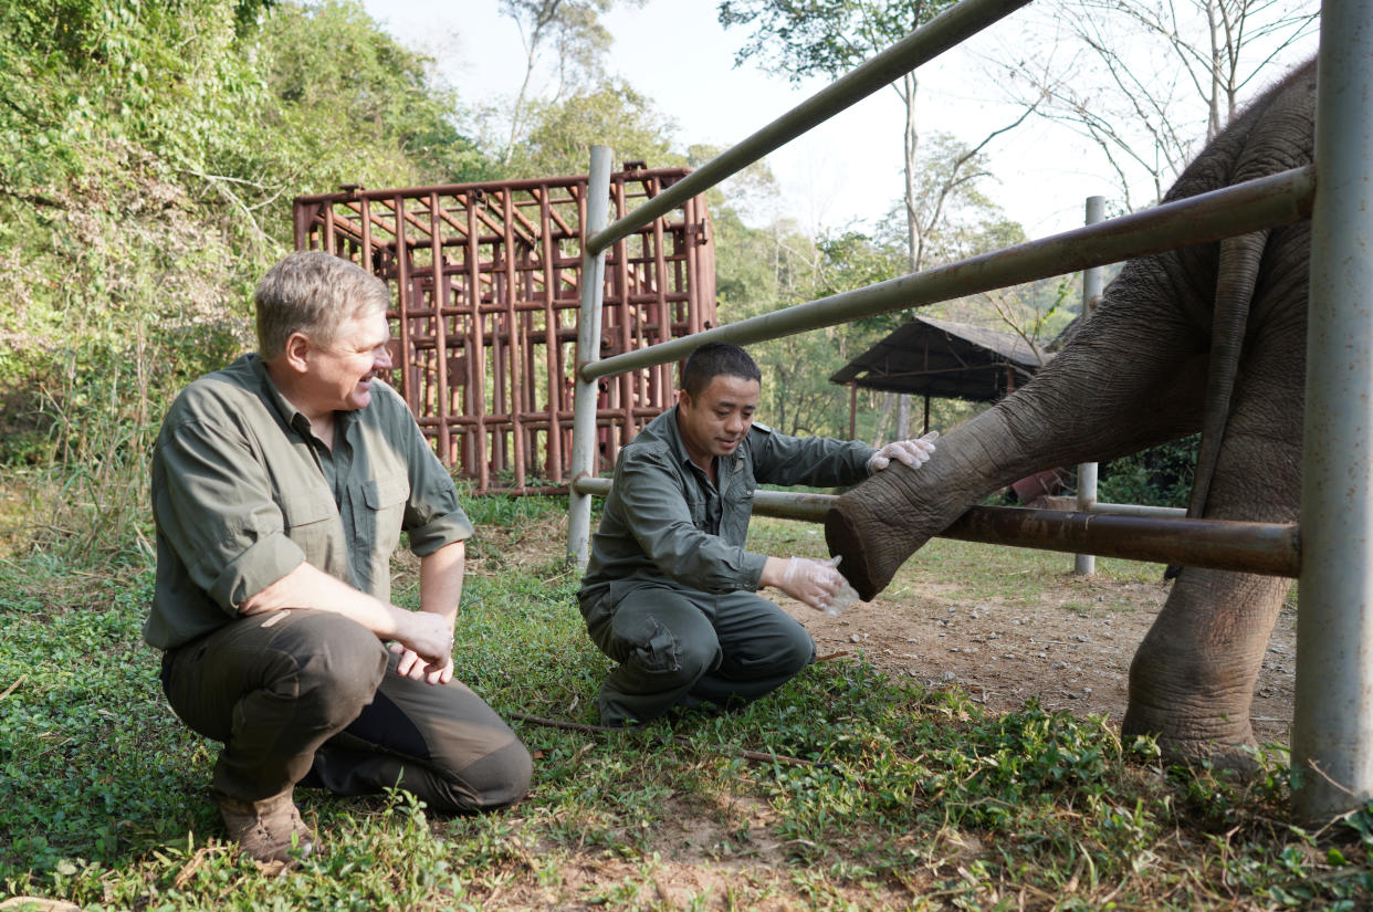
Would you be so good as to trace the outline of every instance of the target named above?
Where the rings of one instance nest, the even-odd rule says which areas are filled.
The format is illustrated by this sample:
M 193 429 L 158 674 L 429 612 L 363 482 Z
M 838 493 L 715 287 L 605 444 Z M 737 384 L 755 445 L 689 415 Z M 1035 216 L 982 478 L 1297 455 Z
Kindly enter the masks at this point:
M 1254 687 L 1291 580 L 1189 567 L 1130 665 L 1122 733 L 1155 735 L 1170 762 L 1256 769 Z

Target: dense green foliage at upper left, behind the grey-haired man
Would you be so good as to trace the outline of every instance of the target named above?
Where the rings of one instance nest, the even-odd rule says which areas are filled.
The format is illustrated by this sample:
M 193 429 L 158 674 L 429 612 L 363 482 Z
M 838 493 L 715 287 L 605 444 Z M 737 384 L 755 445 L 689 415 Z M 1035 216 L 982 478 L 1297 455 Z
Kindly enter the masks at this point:
M 290 196 L 487 163 L 358 3 L 7 0 L 0 29 L 0 467 L 41 504 L 23 547 L 128 556 L 158 420 L 251 347 Z

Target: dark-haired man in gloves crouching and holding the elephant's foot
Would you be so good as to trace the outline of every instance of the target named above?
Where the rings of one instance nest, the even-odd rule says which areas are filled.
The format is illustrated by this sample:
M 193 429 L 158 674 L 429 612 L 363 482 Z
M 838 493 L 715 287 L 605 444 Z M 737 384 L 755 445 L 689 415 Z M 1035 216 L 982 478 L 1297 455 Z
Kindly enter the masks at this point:
M 578 595 L 586 630 L 618 668 L 600 689 L 605 725 L 673 706 L 748 703 L 816 658 L 799 622 L 757 595 L 776 586 L 824 610 L 847 585 L 827 560 L 744 549 L 759 483 L 853 485 L 934 445 L 778 434 L 754 422 L 762 374 L 747 352 L 697 347 L 677 405 L 621 451 Z

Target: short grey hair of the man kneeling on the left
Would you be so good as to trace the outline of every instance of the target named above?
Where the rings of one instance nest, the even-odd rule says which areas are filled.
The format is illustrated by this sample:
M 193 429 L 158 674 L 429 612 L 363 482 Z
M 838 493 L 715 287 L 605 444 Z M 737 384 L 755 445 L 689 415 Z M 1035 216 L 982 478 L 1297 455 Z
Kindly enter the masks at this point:
M 294 332 L 330 346 L 345 320 L 384 310 L 390 302 L 386 283 L 347 260 L 298 250 L 268 269 L 253 293 L 258 354 L 265 361 L 279 357 Z

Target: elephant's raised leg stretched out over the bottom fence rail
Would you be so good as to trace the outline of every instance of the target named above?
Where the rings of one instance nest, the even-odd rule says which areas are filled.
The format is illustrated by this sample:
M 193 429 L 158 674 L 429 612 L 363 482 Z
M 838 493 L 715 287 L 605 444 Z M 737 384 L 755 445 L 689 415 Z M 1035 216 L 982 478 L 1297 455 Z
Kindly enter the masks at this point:
M 1108 460 L 1199 429 L 1207 356 L 1185 313 L 1160 312 L 1170 282 L 1134 262 L 1035 379 L 939 441 L 920 468 L 892 466 L 825 516 L 831 554 L 870 600 L 931 536 L 987 493 L 1043 468 Z M 1188 339 L 1192 343 L 1188 343 Z

